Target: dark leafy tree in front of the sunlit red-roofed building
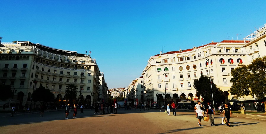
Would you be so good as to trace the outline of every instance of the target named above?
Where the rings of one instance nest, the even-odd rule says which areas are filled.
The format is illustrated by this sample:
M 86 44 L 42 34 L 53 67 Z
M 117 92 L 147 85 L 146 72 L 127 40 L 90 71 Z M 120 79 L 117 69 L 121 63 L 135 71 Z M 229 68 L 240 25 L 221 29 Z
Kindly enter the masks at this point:
M 193 87 L 197 90 L 197 94 L 203 97 L 204 102 L 205 101 L 212 102 L 212 94 L 213 94 L 215 104 L 216 103 L 221 104 L 225 101 L 225 96 L 223 95 L 223 91 L 217 88 L 216 84 L 214 84 L 213 82 L 212 82 L 212 89 L 211 89 L 210 78 L 206 75 L 204 76 L 201 75 L 199 79 L 195 79 Z

